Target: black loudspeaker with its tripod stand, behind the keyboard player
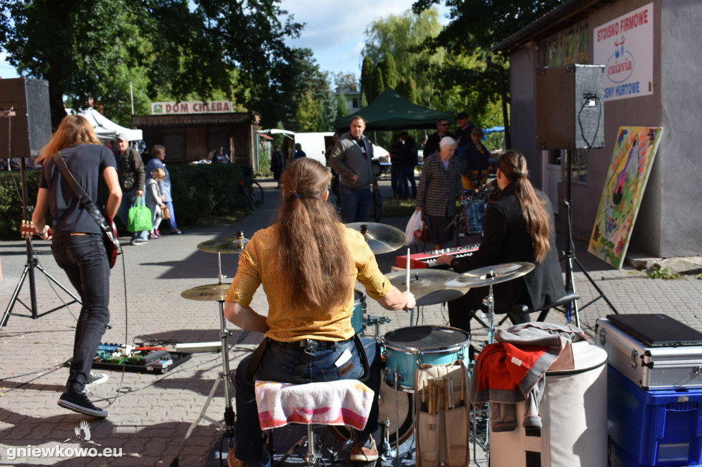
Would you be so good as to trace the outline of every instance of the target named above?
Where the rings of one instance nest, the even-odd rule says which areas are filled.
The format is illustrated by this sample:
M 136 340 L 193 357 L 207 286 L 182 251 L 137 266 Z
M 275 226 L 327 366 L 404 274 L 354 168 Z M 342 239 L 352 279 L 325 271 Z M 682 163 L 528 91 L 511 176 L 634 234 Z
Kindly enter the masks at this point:
M 562 252 L 566 261 L 566 289 L 575 292 L 574 264 L 595 287 L 597 298 L 583 306 L 604 299 L 614 313 L 618 313 L 590 273 L 575 255 L 573 243 L 573 151 L 604 147 L 604 66 L 567 65 L 544 67 L 536 70 L 536 147 L 537 149 L 565 149 L 567 209 L 567 247 Z M 576 326 L 580 326 L 578 302 L 573 302 Z M 569 316 L 570 318 L 570 316 Z M 570 319 L 569 319 L 570 320 Z

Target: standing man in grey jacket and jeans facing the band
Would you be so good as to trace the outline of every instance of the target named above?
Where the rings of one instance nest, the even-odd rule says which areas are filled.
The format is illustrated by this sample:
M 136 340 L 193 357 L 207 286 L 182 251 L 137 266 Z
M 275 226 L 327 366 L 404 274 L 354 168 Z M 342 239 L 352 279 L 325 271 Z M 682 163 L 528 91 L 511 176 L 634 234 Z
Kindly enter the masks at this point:
M 341 217 L 348 222 L 366 222 L 371 216 L 373 189 L 378 182 L 373 175 L 373 144 L 363 135 L 366 121 L 356 116 L 349 133 L 336 142 L 329 165 L 339 174 Z

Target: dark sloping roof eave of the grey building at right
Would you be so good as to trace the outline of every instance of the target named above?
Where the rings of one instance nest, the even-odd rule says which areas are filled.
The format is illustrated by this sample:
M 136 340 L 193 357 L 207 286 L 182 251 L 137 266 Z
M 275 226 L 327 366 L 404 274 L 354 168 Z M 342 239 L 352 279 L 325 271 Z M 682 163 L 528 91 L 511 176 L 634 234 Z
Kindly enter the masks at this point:
M 529 41 L 548 37 L 566 27 L 588 18 L 592 7 L 597 4 L 611 3 L 614 0 L 568 0 L 561 6 L 546 13 L 531 25 L 520 29 L 490 50 L 493 52 L 510 52 Z

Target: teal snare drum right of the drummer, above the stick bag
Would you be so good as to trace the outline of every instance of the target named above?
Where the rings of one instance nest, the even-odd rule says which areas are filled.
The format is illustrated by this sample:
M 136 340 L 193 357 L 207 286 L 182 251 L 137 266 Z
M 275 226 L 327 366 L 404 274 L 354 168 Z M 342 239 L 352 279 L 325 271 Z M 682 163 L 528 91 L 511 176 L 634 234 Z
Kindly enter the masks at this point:
M 414 391 L 414 370 L 419 365 L 444 365 L 468 356 L 470 334 L 456 327 L 409 326 L 385 334 L 385 382 L 399 391 Z M 464 353 L 465 350 L 465 353 Z

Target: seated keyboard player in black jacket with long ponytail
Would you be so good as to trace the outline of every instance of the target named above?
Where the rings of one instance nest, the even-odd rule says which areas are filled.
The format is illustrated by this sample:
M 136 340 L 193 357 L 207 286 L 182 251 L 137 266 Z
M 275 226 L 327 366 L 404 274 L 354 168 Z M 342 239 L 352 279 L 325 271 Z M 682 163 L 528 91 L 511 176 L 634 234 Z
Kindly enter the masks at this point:
M 498 161 L 496 201 L 486 211 L 485 233 L 479 250 L 470 257 L 443 255 L 437 262 L 458 273 L 512 262 L 536 267 L 526 276 L 494 285 L 495 312 L 506 313 L 515 304 L 530 309 L 566 295 L 555 245 L 553 207 L 542 191 L 529 181 L 527 159 L 519 151 L 506 151 Z M 470 311 L 480 309 L 488 287 L 473 287 L 449 302 L 451 326 L 470 332 Z M 484 308 L 484 307 L 483 307 Z M 524 323 L 526 315 L 510 314 L 512 323 Z

